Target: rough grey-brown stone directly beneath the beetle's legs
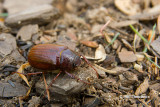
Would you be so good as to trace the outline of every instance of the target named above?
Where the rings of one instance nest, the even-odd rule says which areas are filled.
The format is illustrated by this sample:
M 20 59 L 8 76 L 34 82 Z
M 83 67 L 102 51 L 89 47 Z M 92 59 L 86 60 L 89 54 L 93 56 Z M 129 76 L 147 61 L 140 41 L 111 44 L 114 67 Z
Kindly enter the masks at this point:
M 79 79 L 85 82 L 88 82 L 86 80 L 87 78 L 90 79 L 92 78 L 93 80 L 97 78 L 96 72 L 91 67 L 88 68 L 79 67 L 71 74 L 77 76 Z M 47 84 L 50 84 L 50 82 L 56 75 L 57 74 L 51 74 L 51 73 L 46 75 L 45 77 Z M 77 81 L 77 79 L 71 78 L 65 73 L 61 73 L 60 76 L 53 82 L 52 86 L 49 88 L 51 100 L 61 101 L 66 103 L 66 101 L 70 101 L 71 98 L 73 98 L 74 94 L 80 93 L 88 86 L 89 86 L 88 84 L 82 81 Z M 39 80 L 36 83 L 35 87 L 37 92 L 41 94 L 44 93 L 45 85 L 43 80 Z

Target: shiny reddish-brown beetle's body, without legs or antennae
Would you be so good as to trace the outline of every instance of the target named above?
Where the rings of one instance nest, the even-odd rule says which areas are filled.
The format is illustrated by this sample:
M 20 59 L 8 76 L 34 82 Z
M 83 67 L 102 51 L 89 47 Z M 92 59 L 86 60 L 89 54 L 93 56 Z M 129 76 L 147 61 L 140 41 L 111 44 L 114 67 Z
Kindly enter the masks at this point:
M 81 58 L 66 46 L 39 44 L 30 50 L 28 62 L 38 69 L 69 71 L 81 64 Z

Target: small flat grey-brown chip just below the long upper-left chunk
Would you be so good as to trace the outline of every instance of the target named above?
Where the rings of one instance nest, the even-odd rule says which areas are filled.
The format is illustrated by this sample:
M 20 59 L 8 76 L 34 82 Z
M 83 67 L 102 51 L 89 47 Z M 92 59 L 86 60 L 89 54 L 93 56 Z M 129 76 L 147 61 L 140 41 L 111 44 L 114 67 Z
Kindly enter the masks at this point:
M 17 38 L 21 38 L 22 41 L 30 40 L 32 35 L 38 33 L 38 30 L 38 25 L 23 26 L 17 33 Z

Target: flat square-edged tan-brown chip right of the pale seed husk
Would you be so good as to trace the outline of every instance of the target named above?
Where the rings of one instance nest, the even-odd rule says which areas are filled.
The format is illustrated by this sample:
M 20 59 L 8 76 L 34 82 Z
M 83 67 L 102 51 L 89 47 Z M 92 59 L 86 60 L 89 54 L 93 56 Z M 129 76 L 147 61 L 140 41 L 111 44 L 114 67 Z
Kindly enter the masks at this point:
M 136 55 L 132 51 L 119 52 L 118 57 L 121 62 L 135 62 L 137 60 Z

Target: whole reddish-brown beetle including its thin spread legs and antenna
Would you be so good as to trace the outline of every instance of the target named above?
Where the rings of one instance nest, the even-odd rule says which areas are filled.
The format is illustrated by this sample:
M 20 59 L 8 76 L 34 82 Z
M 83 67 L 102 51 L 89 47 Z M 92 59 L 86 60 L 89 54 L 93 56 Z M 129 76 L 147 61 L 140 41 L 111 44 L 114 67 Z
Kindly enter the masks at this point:
M 91 66 L 88 62 L 88 60 L 82 56 L 83 59 L 87 62 L 89 66 Z M 61 74 L 61 72 L 65 72 L 67 75 L 76 78 L 77 80 L 80 80 L 78 77 L 70 74 L 67 71 L 74 70 L 76 67 L 81 65 L 81 58 L 79 55 L 77 55 L 74 51 L 70 50 L 68 47 L 63 45 L 55 45 L 55 44 L 39 44 L 35 45 L 31 48 L 28 54 L 28 62 L 26 64 L 23 64 L 19 69 L 18 73 L 23 79 L 26 78 L 22 70 L 31 65 L 32 67 L 38 68 L 38 69 L 44 69 L 43 74 L 45 70 L 55 70 L 60 69 L 60 72 L 57 74 L 57 76 L 52 80 L 52 82 L 49 84 L 49 87 L 52 85 L 52 83 L 56 80 L 56 78 Z M 92 67 L 92 66 L 91 66 Z M 93 67 L 92 67 L 93 68 Z M 96 69 L 93 68 L 95 71 Z M 38 73 L 28 73 L 30 75 L 32 74 L 40 74 L 42 72 Z M 97 77 L 98 73 L 96 71 Z M 43 75 L 44 76 L 44 75 Z M 29 82 L 27 79 L 24 79 L 24 81 L 29 85 Z M 80 80 L 86 84 L 87 83 L 83 80 Z M 49 87 L 47 86 L 45 76 L 44 76 L 44 82 L 47 90 L 48 100 L 50 100 L 49 97 Z

